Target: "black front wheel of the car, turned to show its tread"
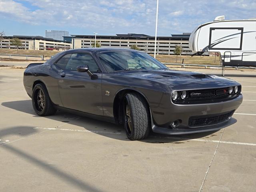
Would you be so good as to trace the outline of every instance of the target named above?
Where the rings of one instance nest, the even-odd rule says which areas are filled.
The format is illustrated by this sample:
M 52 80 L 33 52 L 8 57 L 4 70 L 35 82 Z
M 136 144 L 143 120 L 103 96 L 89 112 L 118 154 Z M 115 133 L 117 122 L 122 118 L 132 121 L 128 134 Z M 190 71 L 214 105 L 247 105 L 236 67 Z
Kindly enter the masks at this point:
M 130 140 L 141 140 L 148 137 L 151 121 L 148 104 L 144 97 L 136 92 L 126 94 L 123 109 L 124 128 L 127 137 Z M 130 111 L 130 118 L 128 111 Z

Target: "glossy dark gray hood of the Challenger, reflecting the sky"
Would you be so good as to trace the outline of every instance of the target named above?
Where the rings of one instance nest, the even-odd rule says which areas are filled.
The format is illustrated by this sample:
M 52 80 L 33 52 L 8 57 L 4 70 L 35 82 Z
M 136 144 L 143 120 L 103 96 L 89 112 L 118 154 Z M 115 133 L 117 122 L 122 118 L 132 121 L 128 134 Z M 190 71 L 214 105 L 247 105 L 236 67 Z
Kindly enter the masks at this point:
M 226 78 L 221 78 L 214 75 L 179 70 L 140 70 L 117 72 L 117 74 L 129 76 L 131 78 L 142 78 L 158 82 L 164 82 L 173 86 L 227 80 Z

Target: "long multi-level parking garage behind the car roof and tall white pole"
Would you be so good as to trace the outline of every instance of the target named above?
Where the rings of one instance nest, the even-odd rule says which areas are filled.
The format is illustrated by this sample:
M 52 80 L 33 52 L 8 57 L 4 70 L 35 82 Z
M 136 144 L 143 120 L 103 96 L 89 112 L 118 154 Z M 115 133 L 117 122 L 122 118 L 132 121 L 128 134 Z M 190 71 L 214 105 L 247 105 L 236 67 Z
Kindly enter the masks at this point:
M 188 48 L 190 33 L 172 34 L 172 36 L 158 36 L 156 44 L 156 54 L 174 54 L 173 51 L 177 45 L 182 47 L 182 54 L 191 54 Z M 92 47 L 95 41 L 94 35 L 71 35 L 65 36 L 64 40 L 72 43 L 72 48 Z M 140 50 L 149 54 L 154 54 L 154 36 L 145 34 L 116 34 L 116 36 L 97 35 L 96 40 L 102 48 L 130 48 L 137 45 Z

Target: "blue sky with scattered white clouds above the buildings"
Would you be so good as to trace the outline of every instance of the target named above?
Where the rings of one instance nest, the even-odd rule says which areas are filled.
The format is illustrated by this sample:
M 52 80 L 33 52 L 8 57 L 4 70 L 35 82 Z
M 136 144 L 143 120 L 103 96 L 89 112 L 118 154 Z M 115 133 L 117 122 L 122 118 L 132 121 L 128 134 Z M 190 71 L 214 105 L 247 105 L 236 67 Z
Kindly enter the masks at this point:
M 192 32 L 220 15 L 256 18 L 256 1 L 159 0 L 157 36 Z M 154 36 L 155 25 L 156 0 L 0 0 L 0 31 L 6 36 L 45 36 L 45 30 Z

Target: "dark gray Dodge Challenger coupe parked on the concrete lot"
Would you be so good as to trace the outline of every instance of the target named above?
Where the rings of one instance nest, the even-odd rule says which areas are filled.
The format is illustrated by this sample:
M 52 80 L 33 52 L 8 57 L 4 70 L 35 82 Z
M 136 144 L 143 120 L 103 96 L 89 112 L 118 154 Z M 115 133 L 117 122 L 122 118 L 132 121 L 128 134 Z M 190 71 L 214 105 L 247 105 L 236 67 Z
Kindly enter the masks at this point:
M 227 78 L 169 70 L 130 49 L 82 48 L 30 64 L 24 87 L 40 116 L 67 110 L 124 124 L 130 140 L 150 131 L 190 134 L 219 130 L 242 103 L 241 85 Z

